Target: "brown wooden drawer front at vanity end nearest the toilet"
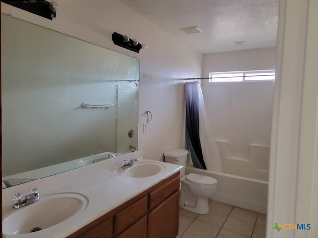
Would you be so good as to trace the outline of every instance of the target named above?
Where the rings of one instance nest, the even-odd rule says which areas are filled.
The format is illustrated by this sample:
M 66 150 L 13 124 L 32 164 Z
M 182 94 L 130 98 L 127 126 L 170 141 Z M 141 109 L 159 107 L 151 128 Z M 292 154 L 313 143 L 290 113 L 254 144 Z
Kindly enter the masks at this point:
M 166 184 L 160 186 L 155 191 L 149 193 L 148 208 L 153 209 L 168 198 L 171 194 L 178 191 L 180 187 L 180 176 L 175 177 Z

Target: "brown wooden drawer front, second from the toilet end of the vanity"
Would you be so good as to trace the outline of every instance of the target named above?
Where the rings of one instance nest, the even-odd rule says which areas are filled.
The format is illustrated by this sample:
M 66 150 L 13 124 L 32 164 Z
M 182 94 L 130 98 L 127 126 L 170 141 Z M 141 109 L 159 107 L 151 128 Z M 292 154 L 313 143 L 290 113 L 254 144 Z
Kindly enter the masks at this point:
M 115 234 L 147 214 L 147 196 L 115 215 Z

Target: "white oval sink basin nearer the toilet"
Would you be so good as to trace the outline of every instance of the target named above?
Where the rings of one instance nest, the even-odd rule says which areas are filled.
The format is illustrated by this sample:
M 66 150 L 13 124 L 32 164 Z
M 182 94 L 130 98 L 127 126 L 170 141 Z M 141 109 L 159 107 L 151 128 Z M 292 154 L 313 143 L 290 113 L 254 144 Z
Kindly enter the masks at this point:
M 156 162 L 136 162 L 134 166 L 122 169 L 117 169 L 117 173 L 122 173 L 126 176 L 133 178 L 144 178 L 157 175 L 159 172 L 164 171 L 166 168 Z

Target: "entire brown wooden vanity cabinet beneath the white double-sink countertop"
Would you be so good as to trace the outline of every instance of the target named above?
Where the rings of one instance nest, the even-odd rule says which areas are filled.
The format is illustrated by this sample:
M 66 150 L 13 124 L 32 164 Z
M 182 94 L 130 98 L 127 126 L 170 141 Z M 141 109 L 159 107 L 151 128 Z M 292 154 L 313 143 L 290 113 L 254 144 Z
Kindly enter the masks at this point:
M 179 184 L 177 172 L 67 238 L 175 238 Z

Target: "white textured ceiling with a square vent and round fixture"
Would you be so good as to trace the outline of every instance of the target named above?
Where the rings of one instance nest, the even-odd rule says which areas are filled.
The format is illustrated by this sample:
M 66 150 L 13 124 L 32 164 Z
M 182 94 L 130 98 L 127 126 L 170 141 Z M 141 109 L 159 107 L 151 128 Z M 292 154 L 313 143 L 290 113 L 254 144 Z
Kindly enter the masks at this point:
M 120 2 L 203 54 L 276 45 L 278 1 Z M 190 26 L 203 32 L 187 35 L 180 30 Z

